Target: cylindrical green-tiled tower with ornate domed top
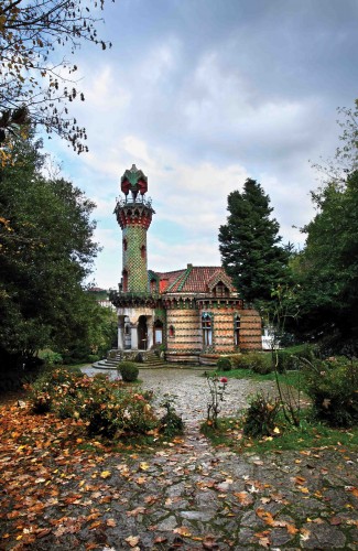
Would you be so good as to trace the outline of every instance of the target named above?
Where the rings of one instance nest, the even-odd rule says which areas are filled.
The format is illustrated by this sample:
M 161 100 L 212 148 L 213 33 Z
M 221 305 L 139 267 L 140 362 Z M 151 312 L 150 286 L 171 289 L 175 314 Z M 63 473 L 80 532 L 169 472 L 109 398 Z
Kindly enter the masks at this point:
M 115 213 L 122 229 L 122 292 L 148 293 L 147 231 L 154 210 L 144 198 L 148 179 L 135 164 L 122 175 L 121 191 L 126 198 Z

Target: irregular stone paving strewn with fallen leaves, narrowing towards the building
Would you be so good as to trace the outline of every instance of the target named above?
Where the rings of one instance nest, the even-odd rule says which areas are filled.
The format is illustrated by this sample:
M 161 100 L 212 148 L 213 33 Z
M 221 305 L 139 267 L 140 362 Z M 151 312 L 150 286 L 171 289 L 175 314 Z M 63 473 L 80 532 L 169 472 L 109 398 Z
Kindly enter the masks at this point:
M 93 541 L 104 551 L 357 550 L 357 454 L 339 445 L 262 456 L 215 450 L 198 431 L 207 397 L 202 372 L 141 370 L 144 388 L 177 396 L 185 436 L 162 451 L 107 454 L 100 465 L 79 465 L 95 480 L 100 471 L 109 473 L 100 493 L 96 483 L 93 496 L 88 490 L 90 503 L 99 498 L 106 537 L 85 529 L 57 549 L 88 549 Z M 257 390 L 253 382 L 230 380 L 223 413 L 243 407 Z

